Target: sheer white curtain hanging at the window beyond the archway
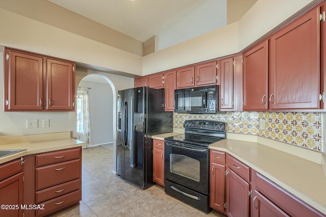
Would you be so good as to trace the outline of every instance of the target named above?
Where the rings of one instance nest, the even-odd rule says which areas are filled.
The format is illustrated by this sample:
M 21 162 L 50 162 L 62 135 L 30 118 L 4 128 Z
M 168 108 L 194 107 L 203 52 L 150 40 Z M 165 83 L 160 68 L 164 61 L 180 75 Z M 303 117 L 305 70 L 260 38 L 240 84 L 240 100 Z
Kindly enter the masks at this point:
M 91 128 L 90 128 L 90 111 L 89 111 L 89 103 L 88 103 L 88 88 L 87 87 L 78 87 L 79 96 L 83 99 L 82 100 L 82 112 L 81 115 L 83 116 L 83 131 L 78 133 L 78 140 L 82 140 L 86 143 L 87 146 L 92 145 L 92 138 L 91 138 Z

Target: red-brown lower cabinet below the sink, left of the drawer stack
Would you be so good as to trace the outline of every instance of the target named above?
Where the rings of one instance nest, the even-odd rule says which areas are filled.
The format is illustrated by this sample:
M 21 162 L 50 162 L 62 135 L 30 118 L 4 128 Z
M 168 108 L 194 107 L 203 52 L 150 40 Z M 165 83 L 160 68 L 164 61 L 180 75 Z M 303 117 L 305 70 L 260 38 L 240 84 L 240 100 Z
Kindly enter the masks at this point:
M 23 167 L 20 160 L 0 165 L 0 216 L 23 216 Z M 9 175 L 9 176 L 8 176 Z M 5 207 L 3 207 L 5 205 Z

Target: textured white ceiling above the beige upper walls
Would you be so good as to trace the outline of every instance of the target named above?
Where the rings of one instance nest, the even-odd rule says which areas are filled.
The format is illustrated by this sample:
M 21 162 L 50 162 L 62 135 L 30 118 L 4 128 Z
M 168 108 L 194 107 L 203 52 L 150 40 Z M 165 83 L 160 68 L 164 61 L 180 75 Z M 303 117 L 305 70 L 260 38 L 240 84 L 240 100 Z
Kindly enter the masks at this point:
M 227 0 L 48 0 L 158 50 L 227 24 Z

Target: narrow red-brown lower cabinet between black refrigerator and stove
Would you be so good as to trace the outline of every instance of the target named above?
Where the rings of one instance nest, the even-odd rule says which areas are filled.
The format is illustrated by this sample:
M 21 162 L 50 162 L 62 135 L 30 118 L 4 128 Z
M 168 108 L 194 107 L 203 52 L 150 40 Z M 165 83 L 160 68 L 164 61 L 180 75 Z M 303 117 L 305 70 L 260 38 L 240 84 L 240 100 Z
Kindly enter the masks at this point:
M 153 181 L 164 186 L 164 141 L 153 139 Z

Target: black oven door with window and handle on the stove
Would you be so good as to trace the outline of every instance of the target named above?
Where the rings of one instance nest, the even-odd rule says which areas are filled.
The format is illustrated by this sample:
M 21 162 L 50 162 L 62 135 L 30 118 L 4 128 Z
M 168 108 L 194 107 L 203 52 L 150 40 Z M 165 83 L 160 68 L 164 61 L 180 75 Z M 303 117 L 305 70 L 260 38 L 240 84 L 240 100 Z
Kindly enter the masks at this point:
M 170 141 L 164 144 L 165 179 L 208 195 L 208 149 Z

